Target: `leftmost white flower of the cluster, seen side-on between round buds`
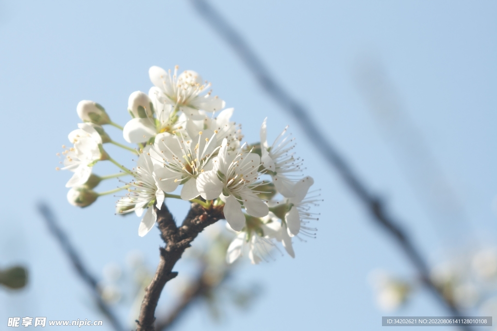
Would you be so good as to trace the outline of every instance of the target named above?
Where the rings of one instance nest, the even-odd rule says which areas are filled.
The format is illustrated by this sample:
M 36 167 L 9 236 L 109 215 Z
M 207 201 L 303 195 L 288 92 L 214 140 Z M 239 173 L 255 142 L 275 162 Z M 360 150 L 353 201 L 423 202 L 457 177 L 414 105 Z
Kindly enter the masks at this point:
M 74 172 L 66 187 L 81 186 L 91 175 L 91 167 L 102 158 L 100 134 L 88 123 L 78 124 L 80 129 L 69 133 L 69 140 L 74 147 L 63 152 L 66 155 L 64 168 Z

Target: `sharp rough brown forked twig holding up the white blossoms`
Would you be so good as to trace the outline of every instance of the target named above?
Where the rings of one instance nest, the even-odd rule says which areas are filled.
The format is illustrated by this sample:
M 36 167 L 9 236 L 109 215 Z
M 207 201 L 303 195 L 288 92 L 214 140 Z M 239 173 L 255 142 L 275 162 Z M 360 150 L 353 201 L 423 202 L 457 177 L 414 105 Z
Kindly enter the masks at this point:
M 161 231 L 161 238 L 166 247 L 160 248 L 160 262 L 152 282 L 145 289 L 137 331 L 154 331 L 155 310 L 166 283 L 176 277 L 177 272 L 172 268 L 181 258 L 184 250 L 207 226 L 224 218 L 222 206 L 211 207 L 205 210 L 198 203 L 192 203 L 183 223 L 178 228 L 174 218 L 164 204 L 161 210 L 154 206 L 157 212 L 157 223 Z

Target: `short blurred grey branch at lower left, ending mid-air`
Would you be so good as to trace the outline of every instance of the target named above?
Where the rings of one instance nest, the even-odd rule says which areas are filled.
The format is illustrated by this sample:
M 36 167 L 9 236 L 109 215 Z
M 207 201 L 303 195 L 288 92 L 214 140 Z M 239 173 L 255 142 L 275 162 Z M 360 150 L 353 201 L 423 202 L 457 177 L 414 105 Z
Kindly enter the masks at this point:
M 98 306 L 102 314 L 104 314 L 105 317 L 107 317 L 107 319 L 110 321 L 112 328 L 116 331 L 124 331 L 125 329 L 122 327 L 121 323 L 114 315 L 110 307 L 105 302 L 103 302 L 98 290 L 98 282 L 96 278 L 88 271 L 88 268 L 83 264 L 83 261 L 81 260 L 76 248 L 69 241 L 68 236 L 66 235 L 66 233 L 64 233 L 64 230 L 62 230 L 62 228 L 57 223 L 57 220 L 50 207 L 47 204 L 41 202 L 38 204 L 38 211 L 47 223 L 50 233 L 54 235 L 55 239 L 57 239 L 57 241 L 61 245 L 64 253 L 68 256 L 69 260 L 71 260 L 71 263 L 78 272 L 78 275 L 90 288 L 96 305 Z

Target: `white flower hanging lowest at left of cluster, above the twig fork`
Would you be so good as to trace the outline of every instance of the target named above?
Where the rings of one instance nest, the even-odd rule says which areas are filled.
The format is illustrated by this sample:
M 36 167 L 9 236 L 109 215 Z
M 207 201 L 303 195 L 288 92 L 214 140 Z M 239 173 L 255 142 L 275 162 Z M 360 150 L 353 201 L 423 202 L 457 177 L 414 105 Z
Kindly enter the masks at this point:
M 128 191 L 130 193 L 126 197 L 119 199 L 116 206 L 121 210 L 121 213 L 134 210 L 138 216 L 142 216 L 145 209 L 147 209 L 138 228 L 140 237 L 145 236 L 157 221 L 154 204 L 157 205 L 157 209 L 161 209 L 165 199 L 164 192 L 158 188 L 154 180 L 154 165 L 147 152 L 148 149 L 140 154 L 138 158 L 136 172 L 133 173 L 135 180 L 129 183 L 130 188 Z

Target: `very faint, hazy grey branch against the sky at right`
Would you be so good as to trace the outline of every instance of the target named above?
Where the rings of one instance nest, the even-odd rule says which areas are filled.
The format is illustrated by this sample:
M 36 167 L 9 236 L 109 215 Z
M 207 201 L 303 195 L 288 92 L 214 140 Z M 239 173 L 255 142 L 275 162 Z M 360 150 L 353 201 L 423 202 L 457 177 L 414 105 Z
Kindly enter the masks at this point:
M 468 215 L 438 166 L 395 86 L 378 60 L 361 59 L 355 80 L 376 124 L 401 165 L 417 199 L 425 205 L 440 237 L 450 246 L 460 246 L 471 232 Z

